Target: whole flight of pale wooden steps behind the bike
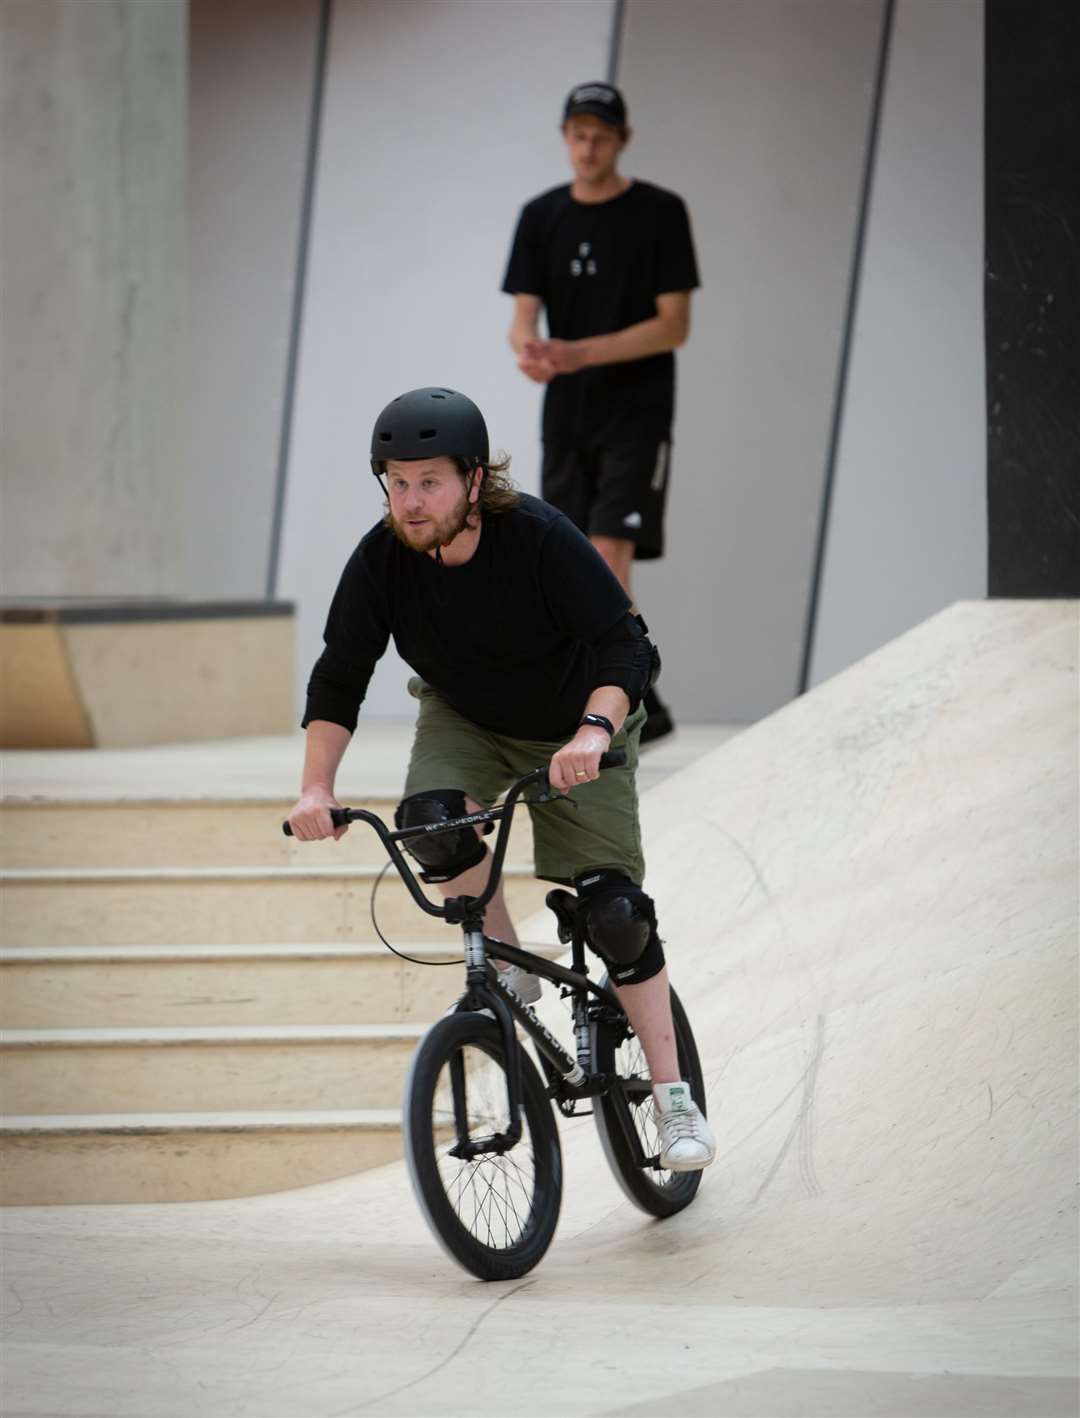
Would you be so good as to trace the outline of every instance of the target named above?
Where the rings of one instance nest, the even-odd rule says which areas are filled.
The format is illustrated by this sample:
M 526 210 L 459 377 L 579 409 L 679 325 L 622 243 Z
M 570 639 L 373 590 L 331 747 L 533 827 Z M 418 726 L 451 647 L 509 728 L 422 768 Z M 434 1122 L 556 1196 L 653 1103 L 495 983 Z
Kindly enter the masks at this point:
M 364 722 L 342 800 L 388 821 L 411 733 Z M 302 757 L 302 735 L 7 756 L 7 1204 L 249 1195 L 401 1154 L 403 1081 L 461 993 L 459 936 L 394 872 L 373 906 L 386 856 L 367 828 L 281 834 Z M 523 813 L 507 900 L 526 917 L 546 891 Z

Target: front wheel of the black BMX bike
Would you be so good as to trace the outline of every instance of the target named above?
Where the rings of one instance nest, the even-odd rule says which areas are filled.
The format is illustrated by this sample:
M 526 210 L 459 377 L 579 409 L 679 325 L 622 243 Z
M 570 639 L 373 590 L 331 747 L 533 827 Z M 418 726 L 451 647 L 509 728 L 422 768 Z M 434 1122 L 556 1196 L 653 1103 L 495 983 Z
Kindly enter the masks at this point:
M 405 1083 L 405 1160 L 432 1235 L 482 1280 L 513 1280 L 543 1259 L 558 1224 L 563 1154 L 551 1102 L 524 1051 L 522 1139 L 502 1156 L 449 1156 L 454 1071 L 471 1136 L 509 1127 L 502 1031 L 482 1014 L 438 1020 L 424 1035 Z

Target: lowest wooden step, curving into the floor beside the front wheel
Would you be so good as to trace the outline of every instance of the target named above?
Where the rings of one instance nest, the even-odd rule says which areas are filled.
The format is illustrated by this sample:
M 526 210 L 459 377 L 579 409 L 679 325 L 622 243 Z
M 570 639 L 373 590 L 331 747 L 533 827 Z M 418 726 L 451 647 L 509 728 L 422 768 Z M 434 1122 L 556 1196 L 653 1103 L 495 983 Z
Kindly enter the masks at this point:
M 0 1127 L 0 1201 L 213 1201 L 332 1181 L 401 1153 L 397 1109 L 14 1116 Z

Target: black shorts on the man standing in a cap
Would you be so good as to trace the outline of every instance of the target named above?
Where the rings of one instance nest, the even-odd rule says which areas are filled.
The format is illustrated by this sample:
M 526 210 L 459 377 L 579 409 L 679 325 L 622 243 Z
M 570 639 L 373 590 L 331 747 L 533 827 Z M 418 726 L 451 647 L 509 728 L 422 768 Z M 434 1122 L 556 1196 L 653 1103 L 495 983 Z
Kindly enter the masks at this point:
M 611 448 L 544 444 L 540 493 L 587 536 L 634 543 L 639 562 L 663 556 L 672 444 L 639 440 Z

